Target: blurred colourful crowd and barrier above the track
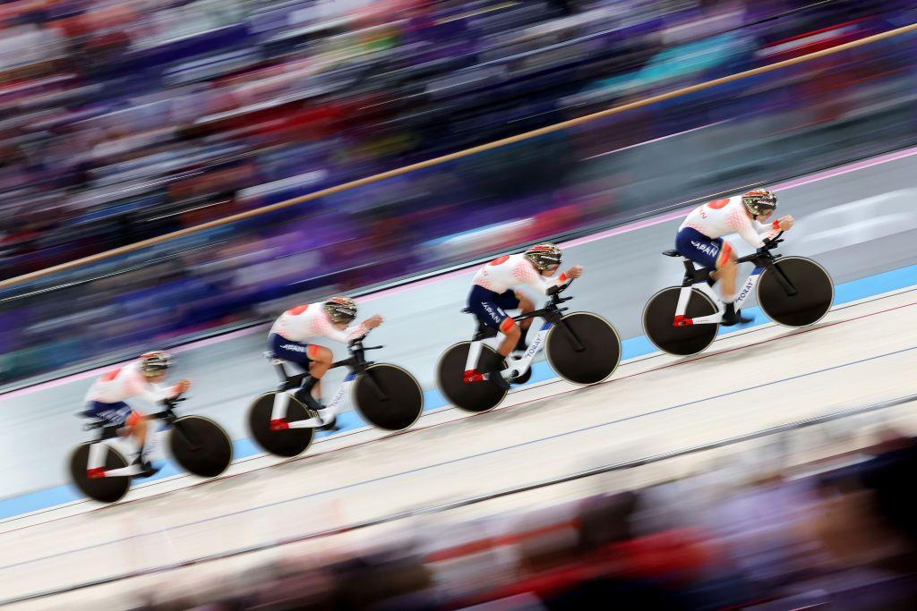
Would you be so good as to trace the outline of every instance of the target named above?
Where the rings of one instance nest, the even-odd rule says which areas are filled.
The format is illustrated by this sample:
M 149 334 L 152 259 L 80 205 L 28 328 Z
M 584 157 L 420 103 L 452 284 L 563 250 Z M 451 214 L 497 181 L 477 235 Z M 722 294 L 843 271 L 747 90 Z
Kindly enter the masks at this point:
M 8 2 L 0 278 L 914 13 L 906 0 Z M 915 47 L 854 49 L 0 291 L 0 384 L 252 321 L 293 294 L 619 222 L 752 173 L 777 180 L 913 144 Z

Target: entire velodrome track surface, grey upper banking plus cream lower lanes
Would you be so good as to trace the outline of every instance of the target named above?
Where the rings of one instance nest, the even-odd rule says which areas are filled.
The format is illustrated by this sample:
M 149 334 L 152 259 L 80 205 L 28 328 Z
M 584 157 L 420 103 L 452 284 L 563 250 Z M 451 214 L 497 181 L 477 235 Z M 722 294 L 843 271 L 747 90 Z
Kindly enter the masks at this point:
M 851 402 L 911 394 L 917 270 L 909 266 L 917 213 L 911 212 L 909 177 L 915 152 L 775 187 L 785 210 L 799 219 L 782 252 L 815 256 L 840 285 L 838 306 L 811 330 L 789 331 L 759 321 L 722 337 L 702 358 L 654 353 L 639 337 L 640 313 L 655 289 L 679 279 L 678 261 L 658 255 L 670 246 L 682 215 L 678 211 L 568 245 L 569 261 L 587 267 L 586 277 L 571 291 L 577 300 L 570 305 L 612 321 L 626 338 L 624 356 L 630 357 L 597 387 L 569 387 L 542 365 L 536 384 L 517 390 L 490 414 L 469 418 L 455 409 L 433 409 L 415 431 L 384 440 L 351 421 L 351 430 L 317 442 L 312 458 L 273 466 L 277 461 L 270 457 L 243 456 L 227 474 L 233 476 L 203 484 L 166 471 L 158 481 L 137 486 L 128 496 L 131 502 L 102 509 L 85 501 L 49 507 L 54 496 L 41 493 L 29 506 L 16 496 L 64 483 L 67 453 L 84 440 L 72 412 L 91 376 L 0 397 L 0 424 L 21 431 L 7 444 L 12 447 L 0 451 L 3 494 L 16 496 L 0 502 L 0 507 L 6 503 L 8 516 L 0 522 L 6 551 L 0 599 L 82 581 L 85 566 L 93 567 L 89 578 L 102 578 L 157 562 L 182 562 L 275 540 L 296 529 L 332 528 L 446 496 L 563 475 L 607 462 L 610 455 L 645 455 Z M 436 356 L 470 331 L 458 310 L 471 273 L 454 272 L 363 300 L 365 311 L 380 311 L 389 319 L 372 335 L 374 344 L 388 346 L 380 360 L 406 366 L 429 387 Z M 185 347 L 182 375 L 187 372 L 197 386 L 183 411 L 207 415 L 234 438 L 245 437 L 249 398 L 273 384 L 271 369 L 260 357 L 262 342 L 263 331 L 254 330 Z M 439 407 L 435 392 L 427 398 L 428 407 Z M 246 442 L 237 447 L 251 452 Z M 435 486 L 443 481 L 450 482 L 448 489 Z M 397 495 L 391 494 L 395 486 Z M 303 515 L 313 518 L 294 518 Z M 126 542 L 150 540 L 154 551 L 123 553 Z M 163 545 L 169 550 L 164 561 Z M 81 592 L 91 597 L 103 590 Z M 34 604 L 59 608 L 63 600 Z

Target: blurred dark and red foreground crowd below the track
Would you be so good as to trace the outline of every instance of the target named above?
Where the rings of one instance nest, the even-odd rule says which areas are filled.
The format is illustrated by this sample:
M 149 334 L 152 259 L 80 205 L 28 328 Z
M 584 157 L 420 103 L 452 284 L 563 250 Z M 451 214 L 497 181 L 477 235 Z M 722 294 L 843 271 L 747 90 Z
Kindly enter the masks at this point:
M 291 554 L 181 595 L 163 584 L 134 608 L 913 609 L 917 440 L 883 437 L 796 475 L 733 453 L 698 475 Z

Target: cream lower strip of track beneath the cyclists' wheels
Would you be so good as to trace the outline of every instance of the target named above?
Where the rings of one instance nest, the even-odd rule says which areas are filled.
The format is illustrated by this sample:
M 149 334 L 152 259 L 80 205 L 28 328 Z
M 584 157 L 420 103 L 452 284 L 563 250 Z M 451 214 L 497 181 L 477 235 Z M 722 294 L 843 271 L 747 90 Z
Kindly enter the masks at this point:
M 837 306 L 810 329 L 764 324 L 722 336 L 699 357 L 637 357 L 593 387 L 547 380 L 514 391 L 486 414 L 440 409 L 398 435 L 364 429 L 316 443 L 310 455 L 289 462 L 249 457 L 208 482 L 177 475 L 138 486 L 114 506 L 74 503 L 9 519 L 0 523 L 0 605 L 115 579 L 10 608 L 127 607 L 139 587 L 187 584 L 202 571 L 276 557 L 287 547 L 274 547 L 277 540 L 912 397 L 917 337 L 889 329 L 908 326 L 915 311 L 912 285 Z M 894 408 L 891 421 L 917 430 L 913 405 Z M 617 486 L 639 483 L 632 477 Z M 535 500 L 508 496 L 464 517 L 563 500 L 594 486 L 577 484 L 546 488 Z M 182 568 L 251 549 L 259 551 Z M 137 576 L 117 579 L 130 573 Z

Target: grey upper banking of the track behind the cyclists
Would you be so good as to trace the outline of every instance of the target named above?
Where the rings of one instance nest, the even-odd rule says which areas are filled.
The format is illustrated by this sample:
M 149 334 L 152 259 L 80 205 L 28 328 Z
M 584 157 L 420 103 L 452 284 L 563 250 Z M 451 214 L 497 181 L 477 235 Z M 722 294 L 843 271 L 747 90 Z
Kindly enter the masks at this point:
M 837 283 L 917 263 L 915 175 L 917 148 L 774 185 L 781 212 L 798 220 L 780 252 L 815 257 Z M 567 261 L 581 263 L 586 271 L 570 289 L 576 299 L 568 305 L 602 314 L 624 339 L 641 336 L 648 297 L 680 280 L 679 261 L 659 253 L 671 247 L 683 215 L 674 211 L 569 243 Z M 732 242 L 741 250 L 740 240 Z M 379 312 L 387 319 L 370 335 L 372 344 L 386 346 L 372 357 L 407 368 L 432 388 L 438 355 L 472 331 L 470 317 L 459 310 L 474 271 L 361 299 L 361 314 Z M 266 333 L 264 327 L 253 328 L 181 349 L 175 375 L 191 377 L 195 385 L 182 413 L 217 420 L 233 439 L 248 437 L 244 419 L 249 400 L 276 382 L 261 356 Z M 625 348 L 627 357 L 650 346 L 632 341 Z M 335 350 L 343 355 L 341 346 Z M 0 395 L 0 427 L 17 431 L 0 447 L 0 499 L 66 483 L 66 458 L 72 446 L 86 440 L 73 413 L 81 409 L 97 375 L 88 372 Z M 342 375 L 332 371 L 328 388 L 336 387 Z M 326 389 L 326 394 L 331 392 Z M 439 400 L 429 397 L 427 407 Z M 0 501 L 0 518 L 14 510 Z

